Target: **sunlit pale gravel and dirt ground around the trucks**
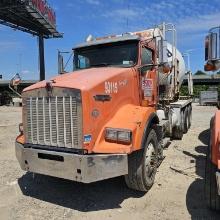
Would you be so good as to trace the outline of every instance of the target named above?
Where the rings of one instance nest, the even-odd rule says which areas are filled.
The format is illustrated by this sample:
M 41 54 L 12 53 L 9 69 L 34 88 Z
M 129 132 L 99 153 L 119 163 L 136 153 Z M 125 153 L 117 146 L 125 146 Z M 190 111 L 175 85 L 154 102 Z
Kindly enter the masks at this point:
M 138 193 L 123 178 L 84 185 L 21 171 L 14 152 L 21 109 L 0 107 L 0 219 L 220 219 L 203 195 L 214 111 L 193 106 L 192 128 L 165 150 L 152 189 Z

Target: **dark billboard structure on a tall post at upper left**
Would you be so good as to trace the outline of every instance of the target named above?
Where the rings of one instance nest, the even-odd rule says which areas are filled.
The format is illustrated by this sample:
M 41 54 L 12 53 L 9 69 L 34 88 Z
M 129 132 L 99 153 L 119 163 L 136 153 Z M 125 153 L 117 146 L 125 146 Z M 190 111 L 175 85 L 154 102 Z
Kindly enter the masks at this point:
M 0 0 L 0 24 L 39 38 L 40 80 L 45 79 L 44 39 L 61 38 L 46 0 Z

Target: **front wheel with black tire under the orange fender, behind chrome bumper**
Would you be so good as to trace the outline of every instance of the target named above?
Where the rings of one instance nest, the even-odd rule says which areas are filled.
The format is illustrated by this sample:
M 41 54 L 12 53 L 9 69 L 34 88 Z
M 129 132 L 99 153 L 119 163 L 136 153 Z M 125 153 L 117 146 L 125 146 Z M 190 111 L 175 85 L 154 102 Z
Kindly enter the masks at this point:
M 128 174 L 125 182 L 131 189 L 147 192 L 153 185 L 158 164 L 158 138 L 151 129 L 144 149 L 133 152 L 128 157 Z

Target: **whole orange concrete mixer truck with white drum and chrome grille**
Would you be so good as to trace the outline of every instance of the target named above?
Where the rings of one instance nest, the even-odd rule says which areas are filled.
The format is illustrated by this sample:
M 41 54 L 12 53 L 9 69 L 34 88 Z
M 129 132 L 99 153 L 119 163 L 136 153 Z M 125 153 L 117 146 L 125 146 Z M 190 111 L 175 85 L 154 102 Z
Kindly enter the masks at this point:
M 90 39 L 74 48 L 73 72 L 26 88 L 21 168 L 84 183 L 124 175 L 149 190 L 163 141 L 190 126 L 191 100 L 178 101 L 184 62 L 163 28 Z

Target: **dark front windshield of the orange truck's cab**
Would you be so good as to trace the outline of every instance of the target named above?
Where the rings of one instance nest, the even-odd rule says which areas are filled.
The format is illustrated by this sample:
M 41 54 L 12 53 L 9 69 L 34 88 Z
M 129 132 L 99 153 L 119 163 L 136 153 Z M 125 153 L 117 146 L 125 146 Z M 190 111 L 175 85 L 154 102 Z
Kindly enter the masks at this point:
M 137 63 L 138 42 L 126 41 L 78 48 L 74 51 L 75 69 L 98 66 L 131 67 Z

